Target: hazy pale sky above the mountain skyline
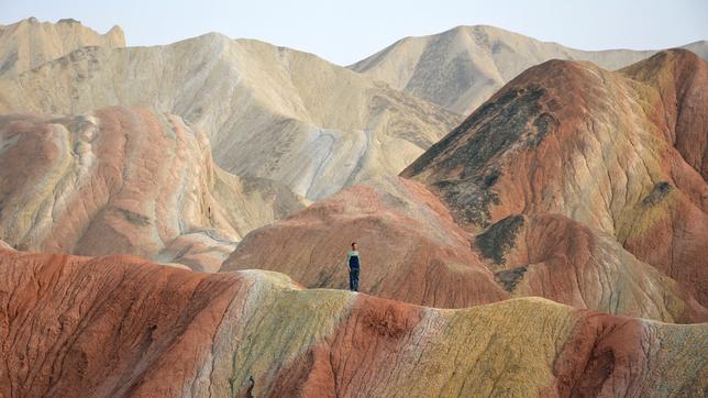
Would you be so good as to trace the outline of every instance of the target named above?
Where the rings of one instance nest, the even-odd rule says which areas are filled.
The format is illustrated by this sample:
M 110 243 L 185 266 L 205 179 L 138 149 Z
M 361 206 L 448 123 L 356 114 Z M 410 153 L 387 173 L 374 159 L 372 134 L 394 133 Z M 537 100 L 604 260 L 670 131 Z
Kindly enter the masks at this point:
M 708 40 L 708 0 L 0 0 L 0 24 L 74 18 L 129 45 L 207 32 L 259 38 L 347 65 L 395 41 L 488 24 L 583 49 L 665 48 Z

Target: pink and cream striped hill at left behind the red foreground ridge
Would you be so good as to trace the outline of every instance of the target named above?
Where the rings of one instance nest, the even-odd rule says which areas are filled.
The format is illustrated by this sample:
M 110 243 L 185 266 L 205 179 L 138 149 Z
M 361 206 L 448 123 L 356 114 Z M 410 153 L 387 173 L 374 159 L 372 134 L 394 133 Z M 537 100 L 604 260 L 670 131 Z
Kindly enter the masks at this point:
M 246 232 L 302 207 L 214 166 L 206 135 L 175 115 L 0 117 L 0 239 L 18 248 L 215 270 Z

